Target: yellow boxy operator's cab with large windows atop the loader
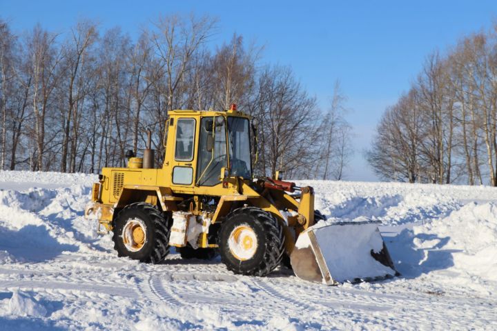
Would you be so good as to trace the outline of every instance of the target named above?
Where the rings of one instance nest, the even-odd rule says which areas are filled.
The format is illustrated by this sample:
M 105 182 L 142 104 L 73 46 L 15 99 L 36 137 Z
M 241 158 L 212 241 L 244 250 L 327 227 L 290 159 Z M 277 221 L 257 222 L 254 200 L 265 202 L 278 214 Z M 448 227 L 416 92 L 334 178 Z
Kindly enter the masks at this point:
M 173 187 L 213 187 L 228 177 L 251 179 L 249 117 L 236 110 L 226 112 L 169 112 L 164 139 L 164 175 Z

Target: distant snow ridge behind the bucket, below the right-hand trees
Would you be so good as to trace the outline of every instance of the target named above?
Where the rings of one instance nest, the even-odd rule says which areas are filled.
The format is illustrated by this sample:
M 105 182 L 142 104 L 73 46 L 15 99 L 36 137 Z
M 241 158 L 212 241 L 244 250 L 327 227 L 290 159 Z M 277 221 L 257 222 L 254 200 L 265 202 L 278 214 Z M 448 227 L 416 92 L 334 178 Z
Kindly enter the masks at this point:
M 367 217 L 384 225 L 423 223 L 445 217 L 468 202 L 497 201 L 488 186 L 353 181 L 297 181 L 311 185 L 315 208 L 327 218 L 353 221 Z

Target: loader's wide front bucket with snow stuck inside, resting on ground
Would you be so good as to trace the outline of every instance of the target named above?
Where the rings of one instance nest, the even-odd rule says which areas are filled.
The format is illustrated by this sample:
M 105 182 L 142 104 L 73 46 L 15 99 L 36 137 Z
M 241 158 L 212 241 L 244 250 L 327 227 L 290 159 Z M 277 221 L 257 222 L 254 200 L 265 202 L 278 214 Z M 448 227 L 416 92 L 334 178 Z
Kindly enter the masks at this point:
M 398 275 L 383 243 L 379 221 L 320 222 L 302 232 L 290 263 L 300 279 L 328 285 Z

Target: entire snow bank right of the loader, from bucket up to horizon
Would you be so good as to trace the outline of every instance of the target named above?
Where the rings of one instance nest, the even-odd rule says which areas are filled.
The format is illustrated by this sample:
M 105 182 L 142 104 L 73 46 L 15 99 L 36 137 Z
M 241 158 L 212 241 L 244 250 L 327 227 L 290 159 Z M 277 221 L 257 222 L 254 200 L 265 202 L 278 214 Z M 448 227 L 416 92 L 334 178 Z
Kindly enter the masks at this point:
M 472 287 L 497 281 L 495 188 L 336 181 L 299 185 L 313 186 L 316 208 L 328 219 L 381 221 L 391 257 L 405 277 L 430 274 Z

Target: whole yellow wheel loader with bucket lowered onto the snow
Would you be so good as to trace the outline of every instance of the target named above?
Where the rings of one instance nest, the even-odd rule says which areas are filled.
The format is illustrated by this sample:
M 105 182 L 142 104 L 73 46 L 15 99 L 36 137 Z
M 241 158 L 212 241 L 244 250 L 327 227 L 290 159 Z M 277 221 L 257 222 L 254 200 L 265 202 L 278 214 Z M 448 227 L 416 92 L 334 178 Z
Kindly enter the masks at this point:
M 119 257 L 160 263 L 170 246 L 185 259 L 217 254 L 236 274 L 266 276 L 284 264 L 301 279 L 326 284 L 396 274 L 378 224 L 326 221 L 313 188 L 253 179 L 249 115 L 168 112 L 162 168 L 154 150 L 126 154 L 127 168 L 103 168 L 87 218 L 113 232 Z

